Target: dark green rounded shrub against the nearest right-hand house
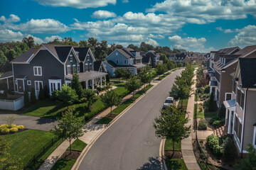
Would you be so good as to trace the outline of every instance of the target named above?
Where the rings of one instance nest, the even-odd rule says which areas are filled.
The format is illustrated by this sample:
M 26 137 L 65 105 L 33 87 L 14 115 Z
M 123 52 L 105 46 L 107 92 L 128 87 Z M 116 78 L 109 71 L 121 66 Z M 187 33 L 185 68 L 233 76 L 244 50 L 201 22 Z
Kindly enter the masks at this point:
M 227 137 L 223 141 L 223 158 L 225 159 L 226 162 L 233 161 L 235 159 L 235 145 L 233 142 L 233 139 L 231 137 Z

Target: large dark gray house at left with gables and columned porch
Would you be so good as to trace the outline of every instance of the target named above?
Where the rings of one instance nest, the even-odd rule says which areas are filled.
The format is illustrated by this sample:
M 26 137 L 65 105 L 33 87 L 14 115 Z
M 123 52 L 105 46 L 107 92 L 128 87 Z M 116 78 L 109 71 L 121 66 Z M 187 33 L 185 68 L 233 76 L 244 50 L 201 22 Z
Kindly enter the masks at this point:
M 14 81 L 12 86 L 18 94 L 23 94 L 25 90 L 31 91 L 33 87 L 36 96 L 39 94 L 40 86 L 48 86 L 51 94 L 63 84 L 70 86 L 73 73 L 77 72 L 83 88 L 94 89 L 95 86 L 105 85 L 102 82 L 105 82 L 107 75 L 104 64 L 94 63 L 95 57 L 88 47 L 42 44 L 11 61 L 11 77 Z M 9 78 L 10 75 L 0 77 Z

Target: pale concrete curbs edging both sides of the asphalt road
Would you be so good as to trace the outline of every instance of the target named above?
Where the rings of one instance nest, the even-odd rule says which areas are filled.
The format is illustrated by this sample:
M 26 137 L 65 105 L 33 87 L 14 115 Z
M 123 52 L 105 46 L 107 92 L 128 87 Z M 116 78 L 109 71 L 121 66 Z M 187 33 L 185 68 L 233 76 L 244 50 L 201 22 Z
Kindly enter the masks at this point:
M 175 70 L 176 71 L 176 70 Z M 175 72 L 174 71 L 174 72 Z M 173 72 L 171 72 L 172 74 Z M 169 75 L 171 75 L 169 74 Z M 168 75 L 168 76 L 169 76 Z M 168 77 L 166 76 L 166 77 Z M 164 79 L 166 78 L 164 77 Z M 163 81 L 164 79 L 161 79 L 161 81 Z M 151 86 L 151 88 L 149 90 L 146 91 L 145 94 L 142 94 L 142 96 L 139 96 L 139 98 L 137 98 L 131 105 L 129 105 L 127 108 L 124 109 L 124 111 L 122 111 L 122 113 L 120 113 L 119 115 L 117 115 L 109 124 L 107 124 L 107 128 L 105 128 L 104 130 L 102 130 L 101 132 L 99 132 L 93 139 L 92 141 L 87 144 L 87 146 L 85 147 L 85 149 L 82 150 L 82 153 L 80 154 L 80 156 L 78 157 L 78 159 L 76 160 L 75 164 L 73 165 L 71 170 L 77 170 L 80 166 L 80 164 L 82 163 L 82 160 L 85 158 L 85 155 L 87 154 L 87 152 L 90 150 L 90 148 L 92 147 L 92 145 L 95 144 L 96 140 L 108 129 L 110 128 L 111 125 L 113 125 L 119 118 L 121 118 L 122 115 L 124 115 L 124 113 L 126 113 L 129 108 L 131 108 L 132 106 L 134 106 L 135 103 L 137 103 L 141 98 L 143 98 L 149 91 L 151 91 L 152 89 L 154 89 L 158 84 L 161 83 L 161 81 L 159 81 L 156 85 Z M 165 163 L 164 163 L 165 165 Z M 166 166 L 166 165 L 165 165 Z M 167 170 L 164 169 L 164 170 Z

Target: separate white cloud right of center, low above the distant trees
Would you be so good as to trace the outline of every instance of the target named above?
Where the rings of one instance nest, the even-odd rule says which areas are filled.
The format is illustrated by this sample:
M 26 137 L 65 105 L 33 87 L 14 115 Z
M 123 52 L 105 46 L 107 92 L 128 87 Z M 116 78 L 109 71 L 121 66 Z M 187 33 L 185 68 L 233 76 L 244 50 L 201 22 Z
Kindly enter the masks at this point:
M 175 48 L 195 51 L 203 51 L 206 42 L 206 38 L 181 38 L 178 35 L 174 35 L 168 39 Z

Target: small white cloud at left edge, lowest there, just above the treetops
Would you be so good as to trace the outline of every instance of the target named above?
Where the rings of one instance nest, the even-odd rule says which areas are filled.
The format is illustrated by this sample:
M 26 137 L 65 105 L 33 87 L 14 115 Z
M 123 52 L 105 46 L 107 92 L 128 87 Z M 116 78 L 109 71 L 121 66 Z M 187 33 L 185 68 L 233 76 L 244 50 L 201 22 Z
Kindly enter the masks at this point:
M 18 41 L 22 40 L 24 35 L 18 31 L 14 32 L 12 30 L 0 30 L 0 42 L 11 42 L 11 41 Z

